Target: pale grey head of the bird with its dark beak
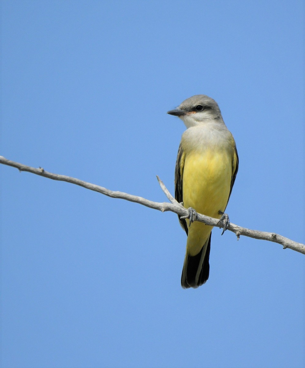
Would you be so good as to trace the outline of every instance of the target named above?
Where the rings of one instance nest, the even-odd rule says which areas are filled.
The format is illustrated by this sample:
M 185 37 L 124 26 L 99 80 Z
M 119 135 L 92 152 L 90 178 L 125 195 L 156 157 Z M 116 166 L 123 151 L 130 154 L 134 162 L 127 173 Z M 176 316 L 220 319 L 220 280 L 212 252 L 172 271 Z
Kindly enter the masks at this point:
M 204 124 L 212 119 L 222 120 L 217 102 L 206 95 L 192 96 L 167 113 L 180 117 L 187 128 Z

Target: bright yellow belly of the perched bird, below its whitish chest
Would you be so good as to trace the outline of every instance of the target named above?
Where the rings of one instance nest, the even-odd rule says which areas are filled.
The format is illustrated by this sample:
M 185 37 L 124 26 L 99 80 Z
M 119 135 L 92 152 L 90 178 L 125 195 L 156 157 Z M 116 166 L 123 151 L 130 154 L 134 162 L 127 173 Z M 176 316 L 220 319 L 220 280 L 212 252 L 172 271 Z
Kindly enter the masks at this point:
M 187 153 L 183 167 L 183 206 L 203 215 L 220 218 L 224 212 L 232 177 L 232 158 L 227 152 Z M 189 227 L 189 222 L 188 222 Z M 198 254 L 208 239 L 212 226 L 194 222 L 189 227 L 187 251 Z

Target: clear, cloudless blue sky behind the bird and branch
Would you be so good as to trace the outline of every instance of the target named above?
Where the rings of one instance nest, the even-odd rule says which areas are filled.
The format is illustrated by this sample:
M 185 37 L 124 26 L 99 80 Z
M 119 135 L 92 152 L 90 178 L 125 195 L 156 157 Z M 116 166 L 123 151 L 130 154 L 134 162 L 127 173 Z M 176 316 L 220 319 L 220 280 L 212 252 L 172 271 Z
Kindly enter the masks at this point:
M 227 212 L 304 243 L 302 1 L 2 1 L 1 152 L 163 202 L 214 98 L 239 171 Z M 304 255 L 212 232 L 180 286 L 173 213 L 0 165 L 1 367 L 304 367 Z

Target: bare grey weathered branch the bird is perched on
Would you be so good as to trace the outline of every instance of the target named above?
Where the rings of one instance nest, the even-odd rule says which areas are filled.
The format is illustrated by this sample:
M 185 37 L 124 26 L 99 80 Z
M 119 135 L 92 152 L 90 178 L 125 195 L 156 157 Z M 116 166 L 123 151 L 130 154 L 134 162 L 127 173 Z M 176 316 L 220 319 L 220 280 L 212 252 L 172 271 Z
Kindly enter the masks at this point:
M 161 189 L 164 191 L 166 197 L 169 199 L 169 201 L 171 201 L 171 203 L 153 202 L 153 201 L 149 201 L 148 199 L 138 197 L 137 195 L 132 195 L 132 194 L 118 192 L 118 191 L 114 192 L 109 189 L 100 187 L 99 185 L 87 183 L 86 181 L 79 180 L 77 178 L 49 173 L 45 171 L 44 169 L 42 169 L 41 167 L 39 169 L 36 169 L 35 167 L 26 166 L 18 162 L 10 161 L 4 158 L 3 156 L 0 156 L 0 163 L 4 165 L 16 167 L 19 171 L 28 171 L 29 173 L 40 175 L 40 176 L 43 176 L 49 179 L 66 181 L 67 183 L 76 184 L 76 185 L 79 185 L 80 187 L 84 187 L 84 188 L 99 192 L 101 194 L 107 195 L 108 197 L 121 198 L 121 199 L 125 199 L 126 201 L 136 202 L 146 207 L 154 208 L 162 212 L 165 212 L 165 211 L 175 212 L 179 216 L 189 216 L 189 211 L 186 208 L 184 208 L 182 204 L 178 203 L 175 198 L 172 197 L 172 195 L 169 193 L 169 191 L 167 190 L 167 188 L 165 187 L 165 185 L 162 183 L 162 181 L 159 179 L 158 176 L 157 178 L 161 186 Z M 222 222 L 219 222 L 218 219 L 214 219 L 209 216 L 201 215 L 200 213 L 197 214 L 196 221 L 203 222 L 211 226 L 217 226 L 220 228 L 223 228 L 224 226 L 224 224 Z M 227 230 L 230 230 L 234 234 L 236 234 L 237 240 L 239 239 L 241 235 L 244 235 L 250 238 L 272 241 L 273 243 L 278 243 L 278 244 L 283 245 L 284 249 L 290 248 L 294 251 L 305 254 L 304 244 L 297 243 L 279 234 L 267 233 L 265 231 L 258 231 L 258 230 L 250 230 L 250 229 L 246 229 L 245 227 L 240 227 L 232 223 L 229 224 L 229 226 L 227 227 Z

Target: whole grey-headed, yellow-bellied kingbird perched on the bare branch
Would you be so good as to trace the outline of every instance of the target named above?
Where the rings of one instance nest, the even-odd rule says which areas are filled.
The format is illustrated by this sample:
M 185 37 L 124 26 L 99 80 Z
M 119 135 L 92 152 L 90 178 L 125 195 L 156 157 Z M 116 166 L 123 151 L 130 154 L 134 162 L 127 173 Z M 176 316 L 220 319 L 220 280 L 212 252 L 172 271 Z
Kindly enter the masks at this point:
M 175 169 L 175 198 L 185 208 L 220 219 L 228 204 L 238 170 L 238 155 L 218 104 L 205 95 L 195 95 L 168 114 L 186 125 Z M 209 277 L 212 226 L 179 221 L 187 234 L 181 285 L 198 287 Z

